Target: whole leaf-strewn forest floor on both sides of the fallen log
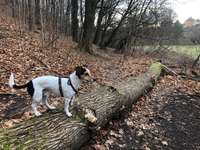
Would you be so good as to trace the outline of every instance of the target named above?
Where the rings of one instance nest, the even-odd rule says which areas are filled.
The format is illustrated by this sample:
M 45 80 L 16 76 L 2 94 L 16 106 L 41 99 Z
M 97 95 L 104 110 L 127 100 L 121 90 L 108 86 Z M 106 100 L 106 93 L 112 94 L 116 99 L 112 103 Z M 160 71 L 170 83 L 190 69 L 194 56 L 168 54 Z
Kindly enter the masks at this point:
M 144 73 L 158 59 L 177 73 L 192 63 L 174 52 L 141 52 L 124 57 L 112 49 L 94 48 L 96 55 L 91 56 L 80 52 L 69 39 L 60 40 L 52 48 L 41 47 L 38 37 L 37 33 L 18 32 L 15 24 L 0 17 L 0 128 L 33 117 L 27 93 L 13 93 L 8 87 L 11 72 L 22 84 L 40 75 L 67 76 L 75 66 L 87 64 L 97 83 L 112 85 Z M 95 86 L 84 83 L 81 91 L 90 92 Z M 53 96 L 50 101 L 54 105 L 63 103 Z M 45 109 L 41 107 L 41 111 Z M 119 119 L 100 129 L 82 149 L 200 149 L 199 116 L 200 82 L 167 75 Z

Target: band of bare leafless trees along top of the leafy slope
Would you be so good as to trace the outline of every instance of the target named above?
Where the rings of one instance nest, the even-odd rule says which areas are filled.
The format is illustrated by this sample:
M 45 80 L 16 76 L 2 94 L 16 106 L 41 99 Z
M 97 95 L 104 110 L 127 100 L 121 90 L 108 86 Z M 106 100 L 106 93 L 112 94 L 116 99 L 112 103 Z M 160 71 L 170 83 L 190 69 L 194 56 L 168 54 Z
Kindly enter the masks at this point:
M 72 37 L 83 50 L 92 44 L 132 52 L 134 46 L 175 44 L 182 25 L 168 0 L 1 0 L 23 29 L 42 42 Z

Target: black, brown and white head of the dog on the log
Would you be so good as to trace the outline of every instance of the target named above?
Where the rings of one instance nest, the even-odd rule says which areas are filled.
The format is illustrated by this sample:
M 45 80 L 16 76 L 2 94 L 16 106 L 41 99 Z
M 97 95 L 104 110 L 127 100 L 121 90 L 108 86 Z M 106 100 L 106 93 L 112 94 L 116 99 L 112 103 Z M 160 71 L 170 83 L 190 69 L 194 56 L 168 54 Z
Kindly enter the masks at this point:
M 81 79 L 81 78 L 86 78 L 90 77 L 93 79 L 91 72 L 88 68 L 83 67 L 83 66 L 78 66 L 75 68 L 76 75 Z

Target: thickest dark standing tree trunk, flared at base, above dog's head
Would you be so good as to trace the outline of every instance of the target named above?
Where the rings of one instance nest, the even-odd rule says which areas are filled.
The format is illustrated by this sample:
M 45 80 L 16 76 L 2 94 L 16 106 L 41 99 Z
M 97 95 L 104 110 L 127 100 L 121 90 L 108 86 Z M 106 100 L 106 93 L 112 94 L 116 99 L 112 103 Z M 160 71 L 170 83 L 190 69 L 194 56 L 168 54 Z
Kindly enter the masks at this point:
M 85 0 L 85 20 L 83 24 L 83 37 L 79 44 L 81 49 L 91 54 L 93 53 L 91 48 L 97 2 L 98 0 Z

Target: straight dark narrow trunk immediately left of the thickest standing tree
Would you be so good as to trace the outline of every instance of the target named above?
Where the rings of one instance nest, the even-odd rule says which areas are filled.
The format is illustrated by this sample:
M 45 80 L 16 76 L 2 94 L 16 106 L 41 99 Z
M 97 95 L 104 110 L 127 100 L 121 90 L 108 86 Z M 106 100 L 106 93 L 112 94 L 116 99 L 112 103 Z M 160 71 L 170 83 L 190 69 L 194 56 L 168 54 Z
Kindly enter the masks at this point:
M 78 42 L 78 0 L 72 0 L 72 40 Z

